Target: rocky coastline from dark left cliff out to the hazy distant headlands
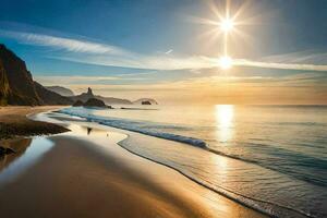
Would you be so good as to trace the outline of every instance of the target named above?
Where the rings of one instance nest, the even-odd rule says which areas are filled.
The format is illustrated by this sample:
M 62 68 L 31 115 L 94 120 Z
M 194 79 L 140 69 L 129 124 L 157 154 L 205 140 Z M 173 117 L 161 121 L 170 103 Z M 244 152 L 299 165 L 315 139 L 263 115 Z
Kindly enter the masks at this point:
M 43 86 L 33 80 L 26 63 L 13 51 L 0 44 L 0 106 L 51 106 L 73 105 L 89 99 L 98 99 L 107 105 L 158 105 L 155 99 L 140 98 L 132 101 L 129 99 L 105 97 L 94 95 L 90 87 L 86 93 L 74 93 L 62 86 Z

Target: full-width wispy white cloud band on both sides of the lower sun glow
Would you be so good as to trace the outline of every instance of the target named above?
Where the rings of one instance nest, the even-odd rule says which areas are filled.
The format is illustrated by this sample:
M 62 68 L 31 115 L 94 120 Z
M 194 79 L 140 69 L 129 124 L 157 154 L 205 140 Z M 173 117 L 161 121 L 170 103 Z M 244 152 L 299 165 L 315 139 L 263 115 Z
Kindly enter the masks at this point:
M 216 57 L 205 56 L 178 56 L 172 55 L 170 49 L 161 55 L 141 55 L 117 46 L 96 43 L 89 39 L 58 37 L 36 33 L 23 33 L 13 31 L 1 31 L 0 36 L 19 40 L 22 44 L 49 47 L 64 50 L 66 52 L 52 52 L 48 58 L 81 62 L 96 65 L 121 66 L 146 70 L 202 70 L 219 66 Z M 170 55 L 170 56 L 167 56 Z M 323 55 L 327 58 L 327 55 Z M 234 59 L 233 64 L 240 66 L 302 70 L 302 71 L 326 71 L 326 64 L 311 64 L 308 61 L 319 58 L 322 55 L 311 53 L 302 58 L 290 55 L 281 55 L 262 60 Z M 271 61 L 272 60 L 272 61 Z M 277 60 L 274 62 L 274 60 Z M 305 62 L 305 63 L 304 63 Z

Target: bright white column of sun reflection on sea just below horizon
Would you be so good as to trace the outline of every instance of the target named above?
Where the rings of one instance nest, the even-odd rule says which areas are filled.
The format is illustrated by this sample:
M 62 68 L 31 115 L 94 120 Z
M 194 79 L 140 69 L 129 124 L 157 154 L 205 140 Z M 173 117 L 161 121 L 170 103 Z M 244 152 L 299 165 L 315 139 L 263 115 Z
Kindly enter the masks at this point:
M 217 137 L 219 142 L 227 143 L 233 136 L 234 106 L 217 105 L 215 108 Z

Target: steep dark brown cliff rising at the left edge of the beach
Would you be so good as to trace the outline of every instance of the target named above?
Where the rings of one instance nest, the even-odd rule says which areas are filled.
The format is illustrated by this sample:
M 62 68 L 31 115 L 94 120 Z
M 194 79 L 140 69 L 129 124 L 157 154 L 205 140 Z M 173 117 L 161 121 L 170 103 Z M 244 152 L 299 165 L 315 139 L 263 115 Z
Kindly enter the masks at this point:
M 33 81 L 25 62 L 0 44 L 0 106 L 69 105 L 72 100 Z

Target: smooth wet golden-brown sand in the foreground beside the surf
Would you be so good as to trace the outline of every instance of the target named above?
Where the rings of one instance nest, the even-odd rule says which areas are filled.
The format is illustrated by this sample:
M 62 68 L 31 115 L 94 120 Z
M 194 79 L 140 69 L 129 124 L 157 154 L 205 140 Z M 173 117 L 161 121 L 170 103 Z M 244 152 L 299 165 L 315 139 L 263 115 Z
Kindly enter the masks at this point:
M 121 131 L 64 122 L 71 132 L 32 141 L 26 154 L 44 140 L 53 145 L 26 170 L 2 183 L 0 171 L 1 216 L 264 217 L 123 149 Z

